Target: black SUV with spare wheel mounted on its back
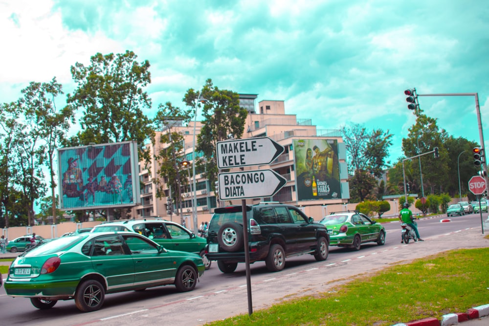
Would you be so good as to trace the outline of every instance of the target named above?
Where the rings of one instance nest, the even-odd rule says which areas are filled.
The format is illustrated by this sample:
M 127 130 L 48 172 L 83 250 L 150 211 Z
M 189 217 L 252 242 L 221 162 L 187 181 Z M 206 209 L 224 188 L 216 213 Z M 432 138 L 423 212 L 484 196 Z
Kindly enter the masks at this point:
M 250 263 L 265 261 L 271 272 L 281 271 L 287 257 L 314 255 L 328 258 L 330 238 L 326 227 L 314 223 L 297 207 L 279 203 L 246 206 Z M 242 206 L 216 208 L 207 231 L 207 258 L 217 261 L 223 273 L 244 262 Z

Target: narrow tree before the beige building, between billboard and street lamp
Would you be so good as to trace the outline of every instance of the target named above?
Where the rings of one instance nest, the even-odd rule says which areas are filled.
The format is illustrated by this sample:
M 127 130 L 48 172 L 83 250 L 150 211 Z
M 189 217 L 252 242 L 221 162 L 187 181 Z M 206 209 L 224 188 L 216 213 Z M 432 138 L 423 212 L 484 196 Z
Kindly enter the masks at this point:
M 185 174 L 180 174 L 180 162 L 184 160 L 183 155 L 183 134 L 176 130 L 176 127 L 188 124 L 191 118 L 191 110 L 183 110 L 178 107 L 174 107 L 170 102 L 165 105 L 159 105 L 156 112 L 156 118 L 154 122 L 157 127 L 162 127 L 160 144 L 165 144 L 163 148 L 160 148 L 155 153 L 155 158 L 159 163 L 158 171 L 154 182 L 157 186 L 156 196 L 161 198 L 165 196 L 164 184 L 173 186 L 173 189 L 177 190 L 177 194 L 173 194 L 177 207 L 181 207 L 181 184 L 185 184 Z M 183 213 L 180 210 L 180 223 L 183 224 Z

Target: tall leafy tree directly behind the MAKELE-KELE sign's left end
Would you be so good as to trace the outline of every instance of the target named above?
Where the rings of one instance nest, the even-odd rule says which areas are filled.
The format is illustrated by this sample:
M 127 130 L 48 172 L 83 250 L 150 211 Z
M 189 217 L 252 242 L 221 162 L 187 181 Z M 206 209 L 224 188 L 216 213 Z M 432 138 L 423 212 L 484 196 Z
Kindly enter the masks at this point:
M 205 99 L 202 113 L 204 121 L 197 137 L 196 151 L 203 153 L 204 160 L 199 164 L 205 166 L 205 175 L 211 187 L 215 188 L 218 174 L 215 155 L 217 142 L 230 137 L 241 138 L 248 111 L 240 107 L 238 93 L 219 89 L 212 84 L 211 79 L 207 79 L 200 92 L 189 88 L 183 102 L 196 112 L 200 96 Z

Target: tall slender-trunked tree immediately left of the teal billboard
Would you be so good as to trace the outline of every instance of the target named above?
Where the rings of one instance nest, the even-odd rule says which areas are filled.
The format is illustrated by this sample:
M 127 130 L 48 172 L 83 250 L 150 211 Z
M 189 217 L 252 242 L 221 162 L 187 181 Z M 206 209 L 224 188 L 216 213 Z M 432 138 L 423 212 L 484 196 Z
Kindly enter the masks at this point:
M 55 104 L 56 96 L 63 94 L 62 85 L 53 78 L 49 83 L 31 82 L 22 90 L 24 97 L 21 101 L 28 120 L 33 122 L 34 132 L 44 141 L 44 160 L 49 168 L 49 180 L 51 188 L 51 216 L 56 223 L 55 202 L 55 169 L 54 155 L 56 149 L 66 143 L 66 135 L 70 128 L 70 122 L 74 123 L 73 109 L 70 106 L 58 110 Z

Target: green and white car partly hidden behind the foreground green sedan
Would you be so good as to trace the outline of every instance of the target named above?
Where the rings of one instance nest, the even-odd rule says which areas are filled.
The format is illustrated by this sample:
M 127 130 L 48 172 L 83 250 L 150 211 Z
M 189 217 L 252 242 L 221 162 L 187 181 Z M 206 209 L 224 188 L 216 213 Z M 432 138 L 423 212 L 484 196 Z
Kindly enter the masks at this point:
M 128 231 L 136 232 L 153 239 L 166 249 L 180 250 L 200 255 L 205 269 L 211 267 L 205 255 L 206 239 L 197 237 L 180 224 L 162 218 L 143 218 L 104 222 L 93 227 L 91 232 Z

